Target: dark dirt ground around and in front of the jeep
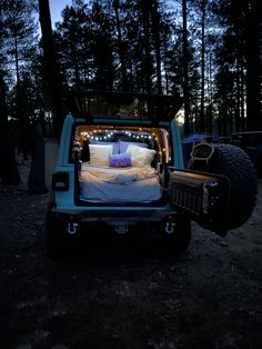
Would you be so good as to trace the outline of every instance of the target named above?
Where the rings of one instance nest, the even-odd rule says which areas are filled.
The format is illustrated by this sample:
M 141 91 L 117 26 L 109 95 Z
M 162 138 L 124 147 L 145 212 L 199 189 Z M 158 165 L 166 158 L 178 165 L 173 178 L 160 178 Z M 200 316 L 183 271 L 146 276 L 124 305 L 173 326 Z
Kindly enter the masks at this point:
M 134 238 L 52 260 L 47 202 L 26 180 L 1 188 L 1 348 L 262 348 L 262 180 L 248 223 L 225 238 L 193 225 L 180 257 Z

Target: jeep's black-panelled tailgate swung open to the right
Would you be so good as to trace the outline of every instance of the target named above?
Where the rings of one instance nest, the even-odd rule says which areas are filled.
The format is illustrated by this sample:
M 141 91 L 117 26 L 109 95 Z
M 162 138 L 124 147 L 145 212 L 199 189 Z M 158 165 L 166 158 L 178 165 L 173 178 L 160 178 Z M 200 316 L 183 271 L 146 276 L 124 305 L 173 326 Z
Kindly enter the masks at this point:
M 169 201 L 201 227 L 228 232 L 230 181 L 220 174 L 170 168 Z

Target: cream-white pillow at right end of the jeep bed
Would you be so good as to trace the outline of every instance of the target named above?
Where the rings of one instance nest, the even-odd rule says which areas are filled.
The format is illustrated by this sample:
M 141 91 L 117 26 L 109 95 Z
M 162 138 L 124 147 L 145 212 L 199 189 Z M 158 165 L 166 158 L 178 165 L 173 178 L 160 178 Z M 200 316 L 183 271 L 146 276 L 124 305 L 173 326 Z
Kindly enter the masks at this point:
M 132 167 L 148 167 L 151 166 L 157 151 L 130 144 L 125 152 L 131 154 Z

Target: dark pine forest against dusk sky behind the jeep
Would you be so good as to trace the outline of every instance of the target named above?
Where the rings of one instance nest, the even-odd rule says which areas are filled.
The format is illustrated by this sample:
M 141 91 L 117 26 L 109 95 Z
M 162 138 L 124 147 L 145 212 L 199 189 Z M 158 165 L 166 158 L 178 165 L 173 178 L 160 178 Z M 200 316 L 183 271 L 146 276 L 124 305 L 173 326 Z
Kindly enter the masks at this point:
M 259 0 L 73 0 L 54 30 L 48 0 L 0 2 L 3 183 L 59 138 L 68 89 L 179 93 L 183 134 L 262 130 Z

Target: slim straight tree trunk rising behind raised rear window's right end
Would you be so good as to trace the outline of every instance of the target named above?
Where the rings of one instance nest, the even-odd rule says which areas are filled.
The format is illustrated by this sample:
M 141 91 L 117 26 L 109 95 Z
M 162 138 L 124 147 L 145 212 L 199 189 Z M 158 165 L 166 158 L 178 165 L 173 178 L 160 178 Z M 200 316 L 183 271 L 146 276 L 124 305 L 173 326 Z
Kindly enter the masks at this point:
M 184 134 L 190 133 L 190 101 L 189 101 L 189 52 L 188 52 L 188 11 L 187 0 L 182 1 L 183 13 L 183 97 L 184 97 Z

